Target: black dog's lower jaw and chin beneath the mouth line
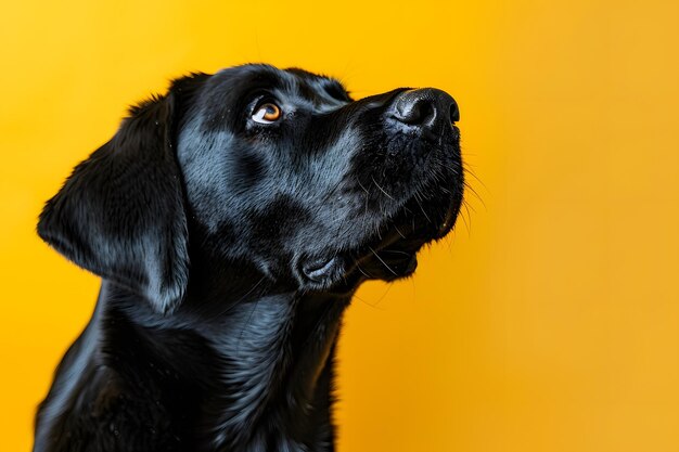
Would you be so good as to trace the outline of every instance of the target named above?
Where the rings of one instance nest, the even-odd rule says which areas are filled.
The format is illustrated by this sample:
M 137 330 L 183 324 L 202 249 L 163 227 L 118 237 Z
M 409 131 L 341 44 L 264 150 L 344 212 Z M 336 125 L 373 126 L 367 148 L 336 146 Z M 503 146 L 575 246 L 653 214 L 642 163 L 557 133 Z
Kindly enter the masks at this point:
M 303 287 L 346 293 L 354 290 L 361 281 L 392 282 L 410 276 L 418 267 L 418 251 L 452 230 L 459 202 L 450 201 L 443 219 L 437 222 L 424 214 L 425 219 L 412 217 L 413 209 L 409 206 L 406 204 L 399 215 L 348 250 L 333 250 L 302 262 L 297 273 L 302 276 Z

